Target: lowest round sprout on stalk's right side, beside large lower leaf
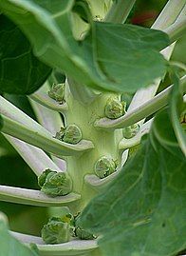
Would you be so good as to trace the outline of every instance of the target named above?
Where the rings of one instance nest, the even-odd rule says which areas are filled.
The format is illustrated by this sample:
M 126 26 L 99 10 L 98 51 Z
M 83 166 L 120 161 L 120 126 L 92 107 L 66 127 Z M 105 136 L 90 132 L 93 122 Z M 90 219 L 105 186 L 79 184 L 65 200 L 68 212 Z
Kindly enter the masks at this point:
M 101 179 L 116 171 L 116 162 L 111 157 L 102 156 L 95 165 L 95 173 Z

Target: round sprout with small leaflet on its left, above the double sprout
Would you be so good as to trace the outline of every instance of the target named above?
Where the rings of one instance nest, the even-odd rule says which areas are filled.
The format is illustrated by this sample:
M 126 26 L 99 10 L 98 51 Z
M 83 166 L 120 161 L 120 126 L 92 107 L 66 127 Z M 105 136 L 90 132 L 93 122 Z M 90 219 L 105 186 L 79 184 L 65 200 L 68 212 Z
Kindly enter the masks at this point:
M 69 125 L 66 128 L 61 128 L 61 130 L 56 133 L 55 138 L 65 143 L 77 144 L 82 140 L 82 131 L 76 125 Z

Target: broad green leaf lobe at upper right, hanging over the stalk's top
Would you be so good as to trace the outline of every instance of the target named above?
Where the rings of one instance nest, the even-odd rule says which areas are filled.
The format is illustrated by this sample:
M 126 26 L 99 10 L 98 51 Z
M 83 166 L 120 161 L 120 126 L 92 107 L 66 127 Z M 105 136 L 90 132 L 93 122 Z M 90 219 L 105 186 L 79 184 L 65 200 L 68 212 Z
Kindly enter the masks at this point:
M 113 82 L 105 89 L 134 92 L 163 77 L 166 63 L 158 50 L 167 44 L 168 37 L 158 30 L 96 23 L 95 58 L 102 73 Z

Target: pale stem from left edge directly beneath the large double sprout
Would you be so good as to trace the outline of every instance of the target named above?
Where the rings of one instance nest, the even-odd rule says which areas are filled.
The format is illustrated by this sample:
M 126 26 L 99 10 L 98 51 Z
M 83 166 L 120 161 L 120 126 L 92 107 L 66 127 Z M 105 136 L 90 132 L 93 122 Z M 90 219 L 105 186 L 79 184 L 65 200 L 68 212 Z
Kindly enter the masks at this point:
M 40 190 L 0 185 L 0 201 L 14 204 L 38 207 L 62 207 L 80 198 L 81 196 L 77 193 L 69 193 L 68 195 L 54 198 L 46 196 L 46 194 Z

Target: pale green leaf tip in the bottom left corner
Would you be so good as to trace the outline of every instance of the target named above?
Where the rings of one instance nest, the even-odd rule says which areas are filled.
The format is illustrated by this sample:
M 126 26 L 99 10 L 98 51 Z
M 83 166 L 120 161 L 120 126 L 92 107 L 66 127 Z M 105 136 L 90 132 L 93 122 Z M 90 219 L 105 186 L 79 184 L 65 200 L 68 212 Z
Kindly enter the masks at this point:
M 0 256 L 37 256 L 36 250 L 33 251 L 27 246 L 18 242 L 9 234 L 8 227 L 2 221 L 0 222 Z

